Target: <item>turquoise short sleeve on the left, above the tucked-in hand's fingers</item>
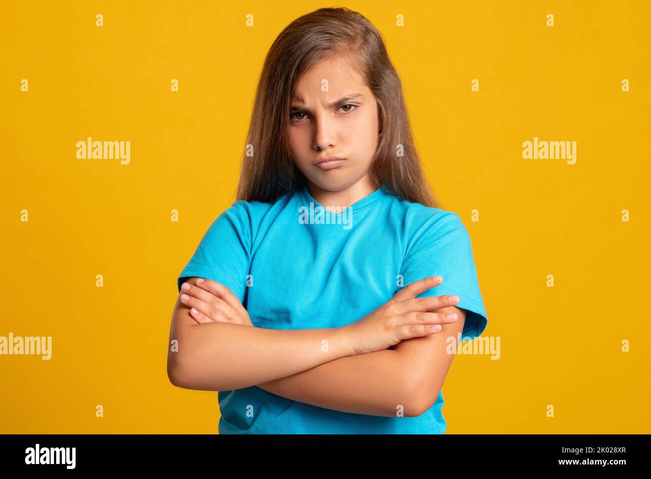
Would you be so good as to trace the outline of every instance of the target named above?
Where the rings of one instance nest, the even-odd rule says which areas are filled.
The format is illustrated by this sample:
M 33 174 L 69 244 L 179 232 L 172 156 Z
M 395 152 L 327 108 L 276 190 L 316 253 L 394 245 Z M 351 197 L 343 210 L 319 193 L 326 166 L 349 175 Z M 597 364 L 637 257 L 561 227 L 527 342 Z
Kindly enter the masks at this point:
M 222 212 L 204 234 L 195 253 L 178 276 L 176 287 L 198 276 L 228 287 L 244 304 L 247 274 L 251 270 L 251 218 L 237 201 Z

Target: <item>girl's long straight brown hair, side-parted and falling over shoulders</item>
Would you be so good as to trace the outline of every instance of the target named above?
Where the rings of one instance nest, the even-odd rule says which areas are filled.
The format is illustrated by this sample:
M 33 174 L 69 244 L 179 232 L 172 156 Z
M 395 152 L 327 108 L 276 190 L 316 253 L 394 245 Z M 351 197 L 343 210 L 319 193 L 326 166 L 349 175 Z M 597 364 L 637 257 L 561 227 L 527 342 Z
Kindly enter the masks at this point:
M 402 82 L 380 32 L 349 8 L 319 8 L 290 23 L 267 53 L 255 93 L 236 197 L 272 202 L 307 179 L 290 152 L 289 124 L 298 79 L 322 60 L 353 56 L 378 103 L 380 135 L 369 175 L 395 196 L 438 208 L 413 141 Z M 396 151 L 402 149 L 404 156 Z

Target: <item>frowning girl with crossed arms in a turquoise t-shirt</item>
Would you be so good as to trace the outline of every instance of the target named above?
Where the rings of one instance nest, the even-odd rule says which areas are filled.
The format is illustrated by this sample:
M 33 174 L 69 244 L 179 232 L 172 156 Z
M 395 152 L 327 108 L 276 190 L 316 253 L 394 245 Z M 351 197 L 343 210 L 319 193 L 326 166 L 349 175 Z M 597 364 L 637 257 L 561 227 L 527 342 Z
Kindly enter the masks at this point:
M 275 40 L 237 197 L 178 278 L 172 383 L 219 391 L 222 434 L 445 433 L 456 344 L 488 319 L 365 17 L 321 8 Z

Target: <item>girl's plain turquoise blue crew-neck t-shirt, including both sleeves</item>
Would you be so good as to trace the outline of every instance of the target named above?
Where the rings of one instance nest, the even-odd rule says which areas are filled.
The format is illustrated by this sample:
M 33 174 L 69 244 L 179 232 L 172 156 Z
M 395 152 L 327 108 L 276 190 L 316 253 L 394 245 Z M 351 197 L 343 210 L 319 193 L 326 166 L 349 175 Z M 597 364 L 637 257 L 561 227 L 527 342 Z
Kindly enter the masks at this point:
M 419 297 L 458 295 L 462 342 L 488 323 L 470 237 L 454 212 L 400 199 L 384 187 L 339 214 L 306 186 L 273 203 L 236 201 L 214 220 L 178 278 L 229 287 L 253 325 L 334 328 L 353 323 L 426 276 L 441 285 Z M 219 391 L 219 433 L 443 434 L 443 394 L 417 417 L 353 414 L 271 394 L 258 386 Z M 249 412 L 247 414 L 247 412 Z

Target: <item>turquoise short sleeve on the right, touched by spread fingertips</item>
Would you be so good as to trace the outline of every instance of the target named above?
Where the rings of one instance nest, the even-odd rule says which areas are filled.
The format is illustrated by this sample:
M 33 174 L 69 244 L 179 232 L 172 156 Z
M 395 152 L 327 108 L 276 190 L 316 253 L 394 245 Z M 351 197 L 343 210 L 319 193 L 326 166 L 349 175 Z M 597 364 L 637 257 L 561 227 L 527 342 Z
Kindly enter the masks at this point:
M 479 291 L 471 240 L 458 214 L 440 210 L 420 225 L 409 241 L 402 265 L 404 285 L 427 276 L 442 276 L 443 282 L 424 291 L 421 297 L 456 295 L 456 305 L 467 311 L 461 341 L 477 338 L 488 325 Z

